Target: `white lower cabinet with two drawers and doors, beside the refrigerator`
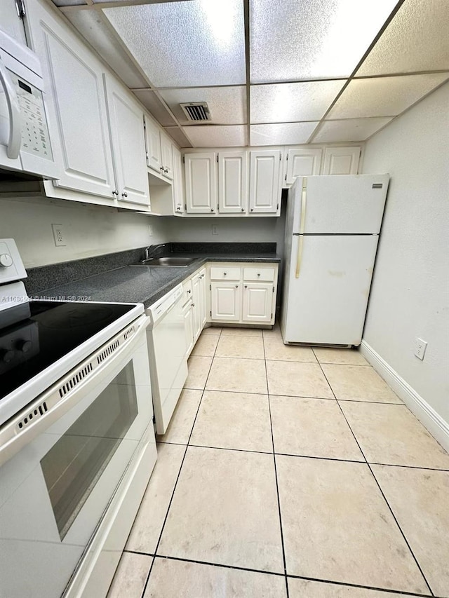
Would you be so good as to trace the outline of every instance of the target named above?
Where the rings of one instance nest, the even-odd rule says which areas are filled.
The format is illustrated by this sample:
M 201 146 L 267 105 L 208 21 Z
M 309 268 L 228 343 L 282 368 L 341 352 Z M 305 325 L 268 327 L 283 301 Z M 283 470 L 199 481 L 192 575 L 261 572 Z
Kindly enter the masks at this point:
M 277 264 L 210 266 L 210 321 L 273 324 Z

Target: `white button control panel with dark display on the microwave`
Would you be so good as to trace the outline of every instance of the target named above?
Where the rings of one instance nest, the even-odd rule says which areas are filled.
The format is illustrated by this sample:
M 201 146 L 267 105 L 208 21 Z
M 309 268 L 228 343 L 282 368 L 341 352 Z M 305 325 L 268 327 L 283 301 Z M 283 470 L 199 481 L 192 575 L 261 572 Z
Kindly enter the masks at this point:
M 20 151 L 53 160 L 41 90 L 9 71 L 22 114 Z

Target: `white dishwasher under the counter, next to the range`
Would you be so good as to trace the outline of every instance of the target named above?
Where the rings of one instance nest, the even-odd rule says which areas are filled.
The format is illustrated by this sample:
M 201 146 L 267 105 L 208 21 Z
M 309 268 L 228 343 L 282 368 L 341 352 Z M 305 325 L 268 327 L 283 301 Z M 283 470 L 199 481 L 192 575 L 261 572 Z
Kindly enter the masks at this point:
M 187 379 L 182 285 L 149 306 L 145 313 L 151 319 L 147 340 L 156 432 L 165 434 Z

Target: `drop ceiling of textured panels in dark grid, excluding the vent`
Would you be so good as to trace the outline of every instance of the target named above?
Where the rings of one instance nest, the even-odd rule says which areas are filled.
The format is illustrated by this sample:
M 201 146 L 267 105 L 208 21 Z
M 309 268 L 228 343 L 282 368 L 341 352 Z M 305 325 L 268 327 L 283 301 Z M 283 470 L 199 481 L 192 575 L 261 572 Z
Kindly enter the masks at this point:
M 448 0 L 53 4 L 180 147 L 364 141 L 449 79 Z

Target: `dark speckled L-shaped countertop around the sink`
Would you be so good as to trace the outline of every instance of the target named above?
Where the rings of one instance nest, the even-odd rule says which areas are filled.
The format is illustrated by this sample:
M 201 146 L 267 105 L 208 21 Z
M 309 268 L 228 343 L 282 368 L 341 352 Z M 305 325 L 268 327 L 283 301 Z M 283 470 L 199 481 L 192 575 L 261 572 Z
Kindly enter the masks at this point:
M 193 247 L 192 247 L 193 248 Z M 195 247 L 199 249 L 199 247 Z M 254 263 L 279 263 L 281 258 L 274 252 L 171 252 L 195 257 L 187 267 L 173 266 L 122 266 L 96 273 L 81 280 L 67 282 L 53 288 L 32 292 L 32 297 L 61 301 L 108 301 L 119 303 L 142 303 L 149 307 L 176 285 L 189 278 L 207 261 L 235 261 Z M 48 267 L 48 266 L 45 266 Z

